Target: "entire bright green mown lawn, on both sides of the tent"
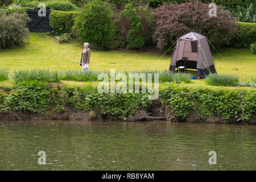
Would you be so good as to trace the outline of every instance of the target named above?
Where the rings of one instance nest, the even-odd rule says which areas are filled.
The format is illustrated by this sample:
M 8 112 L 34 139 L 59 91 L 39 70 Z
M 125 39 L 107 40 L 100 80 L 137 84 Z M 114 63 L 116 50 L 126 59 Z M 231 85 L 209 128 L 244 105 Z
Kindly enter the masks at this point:
M 1 50 L 0 68 L 9 68 L 10 75 L 17 69 L 81 69 L 79 66 L 82 46 L 74 40 L 60 44 L 53 36 L 31 33 L 30 42 L 22 48 Z M 170 55 L 160 58 L 152 50 L 136 51 L 95 51 L 92 50 L 89 68 L 92 70 L 120 71 L 139 69 L 168 70 Z M 225 48 L 221 55 L 214 53 L 216 70 L 219 74 L 240 76 L 241 80 L 256 76 L 256 55 L 249 49 Z M 0 81 L 0 85 L 12 85 L 11 80 Z M 191 85 L 204 86 L 203 80 L 192 81 Z

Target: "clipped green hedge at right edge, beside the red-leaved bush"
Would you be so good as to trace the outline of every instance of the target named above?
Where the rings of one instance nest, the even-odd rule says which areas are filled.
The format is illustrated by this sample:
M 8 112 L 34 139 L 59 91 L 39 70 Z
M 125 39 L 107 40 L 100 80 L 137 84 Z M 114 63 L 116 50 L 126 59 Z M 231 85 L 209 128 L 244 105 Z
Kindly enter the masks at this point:
M 256 23 L 237 23 L 237 35 L 232 40 L 232 45 L 237 48 L 249 48 L 250 44 L 256 42 Z

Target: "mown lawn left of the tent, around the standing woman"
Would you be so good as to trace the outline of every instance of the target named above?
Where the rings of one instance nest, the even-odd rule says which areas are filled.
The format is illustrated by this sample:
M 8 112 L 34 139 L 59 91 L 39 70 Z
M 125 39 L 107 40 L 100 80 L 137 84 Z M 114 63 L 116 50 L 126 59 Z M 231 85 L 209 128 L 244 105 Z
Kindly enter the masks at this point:
M 31 33 L 30 42 L 24 47 L 0 51 L 0 68 L 17 69 L 81 69 L 79 66 L 83 46 L 76 40 L 58 43 L 53 36 Z M 154 50 L 153 50 L 154 51 Z M 134 51 L 96 51 L 90 55 L 89 69 L 94 71 L 141 70 L 169 68 L 170 55 L 159 59 L 160 53 Z

